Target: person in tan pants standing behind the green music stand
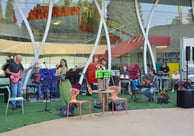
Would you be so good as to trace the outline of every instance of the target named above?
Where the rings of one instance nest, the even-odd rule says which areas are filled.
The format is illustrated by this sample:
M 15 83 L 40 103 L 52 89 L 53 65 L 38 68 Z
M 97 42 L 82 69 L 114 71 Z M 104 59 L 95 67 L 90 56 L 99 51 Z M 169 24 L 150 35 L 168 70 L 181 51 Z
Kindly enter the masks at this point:
M 101 58 L 100 64 L 98 64 L 96 67 L 97 67 L 97 70 L 106 70 L 105 58 Z M 104 90 L 104 89 L 108 88 L 108 79 L 107 78 L 98 79 L 97 82 L 98 82 L 98 90 Z M 109 97 L 108 94 L 106 94 L 105 101 L 108 97 Z M 99 102 L 95 106 L 95 108 L 101 108 L 101 107 L 102 107 L 102 94 L 99 94 Z

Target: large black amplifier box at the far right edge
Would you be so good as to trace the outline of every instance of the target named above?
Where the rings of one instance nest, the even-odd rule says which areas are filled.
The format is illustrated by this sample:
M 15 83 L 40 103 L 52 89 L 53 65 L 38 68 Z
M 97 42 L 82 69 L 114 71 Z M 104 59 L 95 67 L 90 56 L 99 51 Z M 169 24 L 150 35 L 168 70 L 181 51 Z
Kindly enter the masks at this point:
M 177 91 L 177 106 L 183 108 L 194 107 L 194 89 Z

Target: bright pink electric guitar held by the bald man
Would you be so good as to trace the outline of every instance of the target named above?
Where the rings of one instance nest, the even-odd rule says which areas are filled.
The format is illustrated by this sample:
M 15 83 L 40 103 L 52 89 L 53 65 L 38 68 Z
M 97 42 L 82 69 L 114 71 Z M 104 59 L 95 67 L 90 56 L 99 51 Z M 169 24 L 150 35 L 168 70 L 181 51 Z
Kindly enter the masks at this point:
M 38 65 L 38 63 L 35 63 L 34 65 L 35 65 L 35 66 Z M 33 68 L 34 68 L 34 66 L 31 66 L 31 67 L 29 67 L 27 70 L 25 70 L 25 72 L 27 72 L 28 70 L 33 69 Z M 22 75 L 23 73 L 25 73 L 25 72 L 22 73 L 22 71 L 23 71 L 23 70 L 20 69 L 20 70 L 18 71 L 18 73 L 17 73 L 17 76 L 15 76 L 15 75 L 10 75 L 10 79 L 11 79 L 11 81 L 12 81 L 14 84 L 18 83 L 18 82 L 20 81 L 20 79 L 23 78 L 21 75 Z

